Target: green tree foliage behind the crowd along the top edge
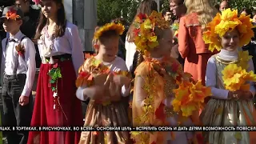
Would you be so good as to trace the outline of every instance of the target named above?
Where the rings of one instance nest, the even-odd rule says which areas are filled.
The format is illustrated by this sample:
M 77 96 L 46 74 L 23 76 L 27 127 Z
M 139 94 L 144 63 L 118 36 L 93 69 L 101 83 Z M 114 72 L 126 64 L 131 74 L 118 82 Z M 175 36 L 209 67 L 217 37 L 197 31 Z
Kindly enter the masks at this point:
M 222 0 L 210 0 L 214 5 L 220 4 Z M 126 22 L 132 22 L 136 14 L 139 3 L 142 0 L 98 0 L 98 25 L 104 25 L 114 18 L 124 18 Z M 241 10 L 242 8 L 250 8 L 256 6 L 256 0 L 230 0 L 231 8 Z M 161 11 L 169 9 L 169 0 L 161 0 Z M 256 8 L 256 7 L 255 7 Z

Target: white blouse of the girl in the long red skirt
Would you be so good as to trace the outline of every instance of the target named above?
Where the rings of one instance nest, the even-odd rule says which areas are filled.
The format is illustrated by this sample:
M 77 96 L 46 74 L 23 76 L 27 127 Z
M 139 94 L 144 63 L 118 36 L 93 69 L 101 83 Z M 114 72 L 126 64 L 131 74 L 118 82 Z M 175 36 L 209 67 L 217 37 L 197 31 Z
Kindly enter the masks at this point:
M 78 69 L 84 62 L 82 42 L 79 38 L 78 27 L 71 22 L 66 22 L 65 34 L 62 37 L 54 38 L 54 40 L 46 37 L 46 34 L 43 30 L 42 33 L 44 34 L 43 38 L 45 39 L 45 43 L 43 43 L 42 37 L 38 40 L 38 50 L 42 58 L 42 63 L 46 63 L 46 57 L 52 57 L 61 54 L 71 54 L 74 70 L 78 76 Z M 46 47 L 44 47 L 44 44 Z M 49 48 L 50 46 L 52 46 L 51 50 L 46 53 L 46 48 Z M 50 63 L 52 62 L 53 61 L 51 58 Z

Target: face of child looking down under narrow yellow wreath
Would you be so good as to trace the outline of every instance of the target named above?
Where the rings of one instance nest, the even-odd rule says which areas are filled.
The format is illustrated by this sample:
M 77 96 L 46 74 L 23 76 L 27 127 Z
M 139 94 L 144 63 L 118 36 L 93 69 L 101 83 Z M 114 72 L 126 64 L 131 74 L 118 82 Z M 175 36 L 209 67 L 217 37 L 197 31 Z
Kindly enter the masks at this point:
M 118 54 L 118 43 L 119 37 L 117 36 L 104 39 L 104 42 L 100 42 L 98 54 L 102 54 L 103 60 L 106 62 L 113 61 Z

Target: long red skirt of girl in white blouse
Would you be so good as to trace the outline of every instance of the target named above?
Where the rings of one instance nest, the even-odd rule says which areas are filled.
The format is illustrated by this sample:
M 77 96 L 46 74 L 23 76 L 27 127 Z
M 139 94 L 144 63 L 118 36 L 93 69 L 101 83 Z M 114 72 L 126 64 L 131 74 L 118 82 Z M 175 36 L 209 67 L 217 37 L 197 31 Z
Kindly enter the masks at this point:
M 58 78 L 58 101 L 50 85 L 48 72 L 56 64 L 42 64 L 31 126 L 82 126 L 82 105 L 76 98 L 76 74 L 71 60 L 59 61 L 62 78 Z M 56 104 L 54 106 L 54 104 Z M 54 109 L 55 107 L 55 109 Z M 28 144 L 78 144 L 79 131 L 30 131 Z

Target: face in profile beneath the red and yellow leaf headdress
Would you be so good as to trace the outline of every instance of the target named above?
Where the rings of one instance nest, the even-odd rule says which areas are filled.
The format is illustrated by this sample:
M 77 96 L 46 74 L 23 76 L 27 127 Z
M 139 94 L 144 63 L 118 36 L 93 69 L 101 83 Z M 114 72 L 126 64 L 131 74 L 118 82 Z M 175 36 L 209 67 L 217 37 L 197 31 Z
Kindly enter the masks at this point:
M 159 53 L 162 56 L 170 56 L 170 51 L 173 46 L 173 36 L 170 29 L 165 30 L 159 42 Z

